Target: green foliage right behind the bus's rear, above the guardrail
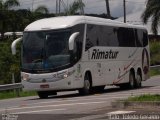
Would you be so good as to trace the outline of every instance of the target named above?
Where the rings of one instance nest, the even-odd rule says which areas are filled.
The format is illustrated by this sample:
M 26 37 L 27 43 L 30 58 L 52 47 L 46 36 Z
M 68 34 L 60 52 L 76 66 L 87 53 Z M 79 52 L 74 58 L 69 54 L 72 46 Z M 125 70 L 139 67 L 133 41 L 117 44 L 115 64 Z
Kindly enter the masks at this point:
M 151 65 L 160 64 L 160 42 L 150 42 Z

